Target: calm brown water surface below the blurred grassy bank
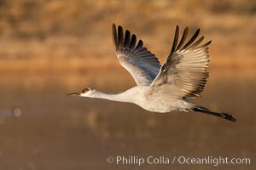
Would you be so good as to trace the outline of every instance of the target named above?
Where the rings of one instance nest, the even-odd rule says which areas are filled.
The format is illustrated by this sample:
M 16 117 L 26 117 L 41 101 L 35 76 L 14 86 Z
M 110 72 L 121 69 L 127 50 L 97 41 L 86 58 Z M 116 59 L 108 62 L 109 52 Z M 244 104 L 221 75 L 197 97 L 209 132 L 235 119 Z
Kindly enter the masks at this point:
M 137 105 L 65 97 L 86 85 L 109 93 L 133 85 L 122 72 L 93 76 L 1 76 L 0 169 L 216 168 L 177 162 L 139 168 L 108 164 L 108 156 L 249 157 L 251 165 L 218 169 L 255 169 L 256 80 L 251 71 L 212 71 L 202 98 L 195 99 L 214 111 L 229 111 L 237 123 L 194 112 L 156 114 Z

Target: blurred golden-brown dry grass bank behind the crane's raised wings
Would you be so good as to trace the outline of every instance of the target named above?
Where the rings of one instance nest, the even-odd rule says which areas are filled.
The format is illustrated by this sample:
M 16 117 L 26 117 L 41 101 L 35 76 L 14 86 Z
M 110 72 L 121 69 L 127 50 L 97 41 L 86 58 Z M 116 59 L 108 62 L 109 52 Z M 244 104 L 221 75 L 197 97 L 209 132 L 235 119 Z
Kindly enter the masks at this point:
M 113 22 L 135 32 L 163 62 L 175 26 L 201 28 L 212 68 L 255 68 L 253 1 L 32 1 L 0 3 L 0 71 L 67 73 L 119 69 Z

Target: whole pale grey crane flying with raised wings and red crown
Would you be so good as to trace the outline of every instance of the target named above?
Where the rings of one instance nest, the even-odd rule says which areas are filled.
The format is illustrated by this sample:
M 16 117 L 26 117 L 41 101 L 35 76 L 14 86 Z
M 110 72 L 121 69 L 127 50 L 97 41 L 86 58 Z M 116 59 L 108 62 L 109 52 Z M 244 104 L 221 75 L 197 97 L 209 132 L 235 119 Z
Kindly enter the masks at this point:
M 96 89 L 67 94 L 97 99 L 128 102 L 141 106 L 147 111 L 166 113 L 171 111 L 198 111 L 236 122 L 231 114 L 214 112 L 190 101 L 198 97 L 209 77 L 208 45 L 201 44 L 204 37 L 197 39 L 200 29 L 186 42 L 189 28 L 186 27 L 179 39 L 176 27 L 172 49 L 166 62 L 159 60 L 143 46 L 143 41 L 121 26 L 112 26 L 113 47 L 119 63 L 130 72 L 137 86 L 121 94 L 105 94 Z M 197 40 L 196 40 L 197 39 Z

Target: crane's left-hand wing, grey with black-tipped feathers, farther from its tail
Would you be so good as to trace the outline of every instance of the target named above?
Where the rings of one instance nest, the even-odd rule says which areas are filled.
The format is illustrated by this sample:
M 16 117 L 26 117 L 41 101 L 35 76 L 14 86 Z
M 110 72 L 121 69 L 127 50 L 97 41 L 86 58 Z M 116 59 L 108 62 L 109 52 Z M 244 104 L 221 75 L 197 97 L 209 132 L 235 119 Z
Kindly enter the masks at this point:
M 125 35 L 123 28 L 112 26 L 113 47 L 120 64 L 130 72 L 137 85 L 150 85 L 160 71 L 160 62 L 143 47 L 143 41 L 137 42 L 137 37 L 126 30 Z

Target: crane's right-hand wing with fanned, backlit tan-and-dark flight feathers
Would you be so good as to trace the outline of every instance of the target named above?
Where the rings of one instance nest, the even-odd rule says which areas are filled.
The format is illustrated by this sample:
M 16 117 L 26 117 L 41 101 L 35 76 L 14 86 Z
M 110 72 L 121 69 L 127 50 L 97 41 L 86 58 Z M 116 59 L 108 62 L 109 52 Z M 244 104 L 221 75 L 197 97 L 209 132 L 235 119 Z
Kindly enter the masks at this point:
M 169 86 L 170 88 L 179 89 L 179 95 L 185 97 L 196 97 L 201 94 L 206 86 L 207 77 L 209 77 L 207 46 L 211 41 L 200 46 L 204 37 L 195 41 L 200 32 L 200 29 L 198 29 L 189 42 L 183 45 L 188 32 L 189 28 L 186 27 L 177 45 L 179 28 L 176 27 L 171 54 L 166 59 L 166 63 L 161 66 L 158 76 L 150 87 L 162 86 L 167 90 Z M 160 89 L 163 93 L 167 93 L 166 90 Z

